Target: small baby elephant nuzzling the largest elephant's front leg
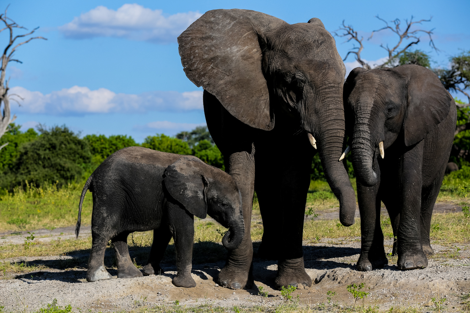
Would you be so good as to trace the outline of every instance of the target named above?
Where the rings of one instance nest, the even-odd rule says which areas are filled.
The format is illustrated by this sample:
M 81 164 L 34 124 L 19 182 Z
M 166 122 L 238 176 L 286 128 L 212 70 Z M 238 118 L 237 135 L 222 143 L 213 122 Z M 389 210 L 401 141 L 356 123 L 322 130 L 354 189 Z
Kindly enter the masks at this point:
M 93 245 L 86 280 L 109 279 L 104 252 L 109 240 L 116 250 L 119 278 L 140 277 L 127 249 L 134 231 L 154 230 L 149 260 L 143 272 L 158 273 L 171 237 L 178 274 L 173 284 L 195 287 L 191 277 L 194 216 L 209 214 L 229 230 L 222 244 L 229 250 L 242 242 L 244 224 L 240 191 L 230 175 L 194 156 L 128 147 L 110 155 L 88 178 L 78 206 L 75 234 L 80 231 L 86 190 L 93 192 Z

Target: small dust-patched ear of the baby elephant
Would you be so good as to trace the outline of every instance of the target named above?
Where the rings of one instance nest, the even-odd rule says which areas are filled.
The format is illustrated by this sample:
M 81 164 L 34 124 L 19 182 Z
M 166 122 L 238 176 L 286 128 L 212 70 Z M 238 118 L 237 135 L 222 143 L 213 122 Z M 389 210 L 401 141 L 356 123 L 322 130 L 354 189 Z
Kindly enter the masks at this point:
M 204 165 L 201 161 L 178 160 L 167 167 L 164 173 L 164 184 L 172 198 L 201 219 L 205 219 L 207 215 L 204 194 L 207 182 L 202 174 Z

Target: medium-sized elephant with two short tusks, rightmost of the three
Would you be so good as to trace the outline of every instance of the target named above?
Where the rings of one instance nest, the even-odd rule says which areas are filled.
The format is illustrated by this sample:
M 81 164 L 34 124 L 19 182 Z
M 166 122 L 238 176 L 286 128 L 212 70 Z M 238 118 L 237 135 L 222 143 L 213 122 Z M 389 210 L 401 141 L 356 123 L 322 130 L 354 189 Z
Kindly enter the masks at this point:
M 388 263 L 381 200 L 397 237 L 392 252 L 398 253 L 398 267 L 426 267 L 426 256 L 434 253 L 432 209 L 454 140 L 454 99 L 433 72 L 418 65 L 353 69 L 344 94 L 361 222 L 357 269 L 370 271 Z

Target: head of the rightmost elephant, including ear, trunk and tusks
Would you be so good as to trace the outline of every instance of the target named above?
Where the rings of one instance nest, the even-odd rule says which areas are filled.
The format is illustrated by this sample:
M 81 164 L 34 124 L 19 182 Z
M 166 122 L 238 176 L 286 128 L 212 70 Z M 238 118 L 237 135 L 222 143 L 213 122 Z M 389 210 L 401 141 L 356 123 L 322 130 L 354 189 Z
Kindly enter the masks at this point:
M 373 186 L 377 155 L 384 158 L 399 135 L 406 146 L 421 141 L 446 118 L 454 99 L 431 70 L 402 65 L 353 69 L 345 81 L 344 103 L 354 171 L 360 183 Z

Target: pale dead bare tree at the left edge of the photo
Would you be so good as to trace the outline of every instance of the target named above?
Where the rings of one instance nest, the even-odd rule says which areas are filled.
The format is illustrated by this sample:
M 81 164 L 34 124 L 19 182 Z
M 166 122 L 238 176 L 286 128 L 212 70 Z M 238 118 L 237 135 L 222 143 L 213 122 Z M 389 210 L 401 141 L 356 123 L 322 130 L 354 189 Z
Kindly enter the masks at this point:
M 16 51 L 16 49 L 19 47 L 19 46 L 23 46 L 24 44 L 27 44 L 28 42 L 30 42 L 31 40 L 33 39 L 44 39 L 44 40 L 47 40 L 47 38 L 44 38 L 44 37 L 41 37 L 41 36 L 38 36 L 38 37 L 31 37 L 31 38 L 28 38 L 27 40 L 23 41 L 23 42 L 20 42 L 18 44 L 15 44 L 15 41 L 16 39 L 18 38 L 24 38 L 24 37 L 27 37 L 27 36 L 30 36 L 31 34 L 33 34 L 39 27 L 36 27 L 35 29 L 33 29 L 32 31 L 26 33 L 26 34 L 22 34 L 22 35 L 14 35 L 13 32 L 14 32 L 14 29 L 23 29 L 23 30 L 28 30 L 27 28 L 23 27 L 23 26 L 19 26 L 15 21 L 13 21 L 11 18 L 7 17 L 7 10 L 8 10 L 8 6 L 7 8 L 5 9 L 5 13 L 3 14 L 0 14 L 0 20 L 5 24 L 5 27 L 3 27 L 2 29 L 0 29 L 0 33 L 2 31 L 8 31 L 9 32 L 9 40 L 8 40 L 8 44 L 7 46 L 5 47 L 5 49 L 3 50 L 3 54 L 1 56 L 1 64 L 0 64 L 0 108 L 1 108 L 1 105 L 3 103 L 3 112 L 2 112 L 2 115 L 0 116 L 0 137 L 3 136 L 3 134 L 5 134 L 5 132 L 7 131 L 7 128 L 8 128 L 8 125 L 10 123 L 12 123 L 13 121 L 15 121 L 16 119 L 16 115 L 13 115 L 13 118 L 10 119 L 10 115 L 11 115 L 11 112 L 10 112 L 10 100 L 12 101 L 15 101 L 19 104 L 18 100 L 15 99 L 15 98 L 12 98 L 12 96 L 16 96 L 18 97 L 19 99 L 22 99 L 20 96 L 18 96 L 17 94 L 8 94 L 8 82 L 9 82 L 9 78 L 7 81 L 5 81 L 5 71 L 7 70 L 7 66 L 8 66 L 8 63 L 9 62 L 18 62 L 18 63 L 23 63 L 22 61 L 19 61 L 19 60 L 16 60 L 16 59 L 13 59 L 13 55 Z M 21 40 L 21 39 L 20 39 Z M 8 142 L 1 145 L 0 146 L 0 150 L 5 147 L 6 145 L 8 145 Z

